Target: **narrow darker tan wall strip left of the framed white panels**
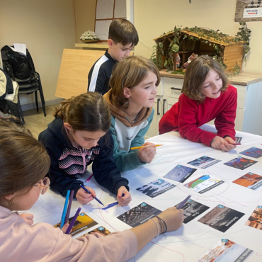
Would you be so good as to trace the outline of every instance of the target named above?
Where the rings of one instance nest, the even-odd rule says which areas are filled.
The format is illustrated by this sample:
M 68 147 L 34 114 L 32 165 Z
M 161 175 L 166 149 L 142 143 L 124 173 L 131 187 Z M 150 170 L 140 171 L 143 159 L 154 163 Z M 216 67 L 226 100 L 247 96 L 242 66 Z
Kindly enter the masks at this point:
M 76 42 L 87 30 L 95 30 L 96 0 L 74 0 L 76 16 Z

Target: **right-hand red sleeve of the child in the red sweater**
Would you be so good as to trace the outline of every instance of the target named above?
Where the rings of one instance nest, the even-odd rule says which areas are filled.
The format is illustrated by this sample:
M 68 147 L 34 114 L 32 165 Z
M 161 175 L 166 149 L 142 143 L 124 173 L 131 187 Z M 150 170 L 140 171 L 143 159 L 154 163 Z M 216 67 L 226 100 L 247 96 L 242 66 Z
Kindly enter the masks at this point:
M 220 137 L 229 136 L 234 139 L 236 131 L 234 130 L 234 121 L 237 113 L 237 89 L 233 89 L 227 97 L 227 105 L 224 110 L 215 119 L 217 135 Z

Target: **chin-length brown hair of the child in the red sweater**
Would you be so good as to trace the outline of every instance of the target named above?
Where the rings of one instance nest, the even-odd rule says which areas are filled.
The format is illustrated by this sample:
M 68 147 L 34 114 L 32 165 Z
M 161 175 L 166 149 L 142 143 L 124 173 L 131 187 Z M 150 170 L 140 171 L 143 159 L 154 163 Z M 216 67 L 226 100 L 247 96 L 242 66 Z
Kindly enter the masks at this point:
M 220 90 L 225 91 L 229 85 L 229 81 L 224 69 L 211 57 L 200 55 L 200 57 L 193 59 L 188 65 L 181 92 L 188 96 L 188 98 L 202 103 L 205 100 L 205 96 L 203 96 L 201 88 L 210 69 L 215 70 L 220 75 L 222 79 L 222 89 Z

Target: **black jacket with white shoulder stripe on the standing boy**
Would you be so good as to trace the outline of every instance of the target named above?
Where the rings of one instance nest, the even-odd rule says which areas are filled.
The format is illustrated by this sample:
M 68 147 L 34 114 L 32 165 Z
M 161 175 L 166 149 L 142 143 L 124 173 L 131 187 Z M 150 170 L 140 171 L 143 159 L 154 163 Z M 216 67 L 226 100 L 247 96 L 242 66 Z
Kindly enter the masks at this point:
M 89 72 L 89 85 L 87 91 L 98 92 L 103 96 L 110 89 L 109 80 L 112 75 L 113 67 L 118 61 L 113 59 L 105 52 L 105 55 L 100 57 Z

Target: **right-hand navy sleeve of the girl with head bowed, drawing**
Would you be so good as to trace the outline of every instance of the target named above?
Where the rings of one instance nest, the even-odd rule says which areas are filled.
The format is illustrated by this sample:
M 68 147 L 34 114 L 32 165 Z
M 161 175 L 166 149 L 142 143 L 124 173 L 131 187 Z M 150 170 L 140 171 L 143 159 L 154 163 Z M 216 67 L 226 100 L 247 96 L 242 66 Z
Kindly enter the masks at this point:
M 125 186 L 129 190 L 128 180 L 121 177 L 121 173 L 115 165 L 113 157 L 113 137 L 107 132 L 99 141 L 100 152 L 93 161 L 93 176 L 96 181 L 108 189 L 111 193 L 117 195 L 118 188 Z

